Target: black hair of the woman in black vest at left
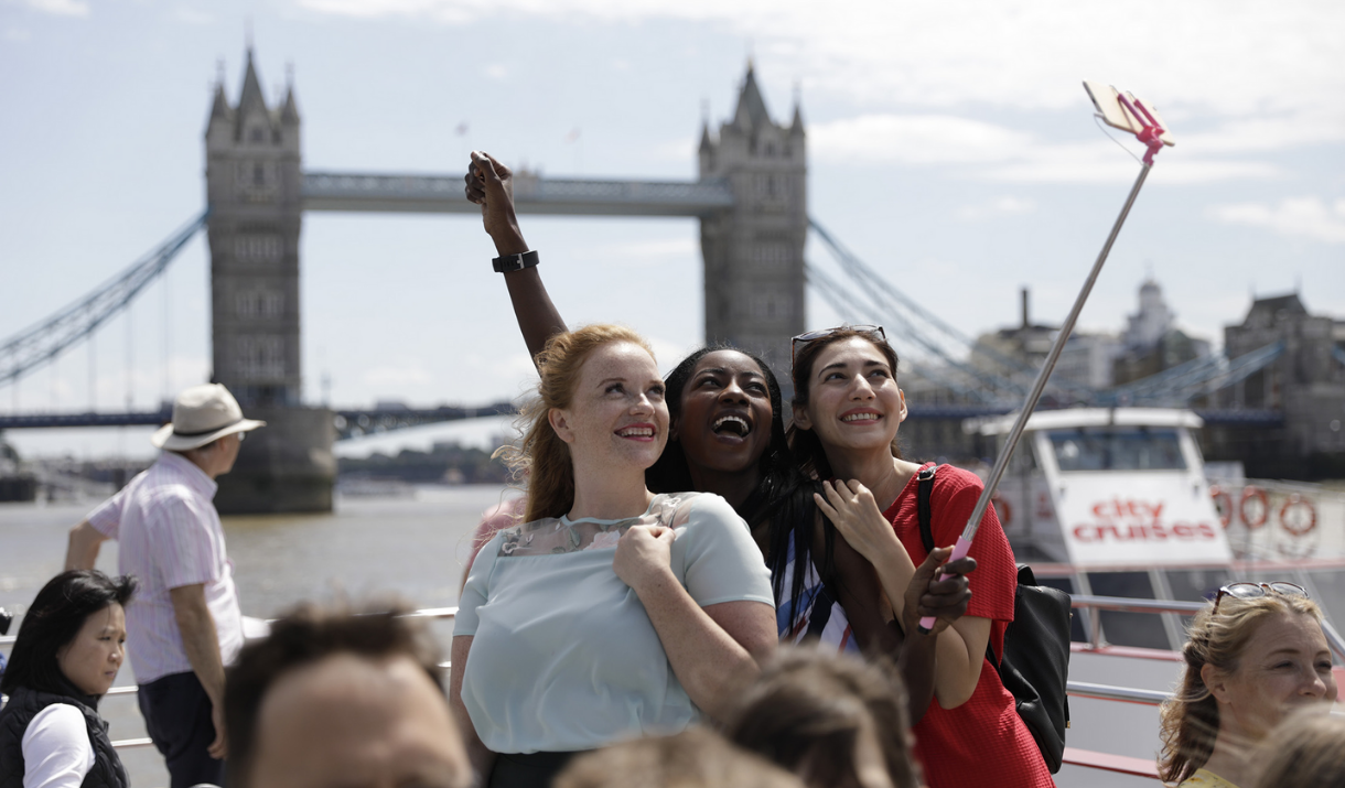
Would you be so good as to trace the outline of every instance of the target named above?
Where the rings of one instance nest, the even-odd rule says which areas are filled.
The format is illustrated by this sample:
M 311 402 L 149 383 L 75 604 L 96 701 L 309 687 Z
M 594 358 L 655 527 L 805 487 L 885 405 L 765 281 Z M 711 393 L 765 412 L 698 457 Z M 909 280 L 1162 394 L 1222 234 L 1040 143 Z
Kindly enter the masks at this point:
M 61 672 L 56 652 L 75 639 L 89 616 L 112 604 L 125 608 L 134 593 L 134 577 L 114 580 L 97 569 L 73 569 L 52 577 L 23 616 L 9 664 L 0 675 L 0 693 L 27 687 L 65 694 L 70 679 Z

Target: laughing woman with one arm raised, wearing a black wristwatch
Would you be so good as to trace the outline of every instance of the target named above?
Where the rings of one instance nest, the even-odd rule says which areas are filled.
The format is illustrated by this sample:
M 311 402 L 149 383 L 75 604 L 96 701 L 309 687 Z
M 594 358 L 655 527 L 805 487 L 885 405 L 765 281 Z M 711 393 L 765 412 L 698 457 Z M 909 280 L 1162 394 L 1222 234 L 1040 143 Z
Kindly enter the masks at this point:
M 473 152 L 464 180 L 467 198 L 482 206 L 486 231 L 502 255 L 496 270 L 506 274 L 514 313 L 535 356 L 547 338 L 565 331 L 565 321 L 519 230 L 512 173 L 494 157 Z M 683 359 L 666 385 L 671 429 L 667 448 L 646 475 L 648 488 L 724 496 L 752 528 L 771 567 L 781 641 L 818 639 L 838 651 L 878 652 L 901 662 L 917 718 L 932 694 L 933 639 L 913 637 L 904 645 L 873 567 L 818 516 L 816 483 L 795 467 L 780 385 L 769 366 L 755 354 L 712 346 Z M 477 543 L 488 538 L 484 527 Z M 975 567 L 974 561 L 947 566 L 952 577 L 939 582 L 933 567 L 947 555 L 931 557 L 925 585 L 915 594 L 921 615 L 939 616 L 940 627 L 966 609 L 962 574 Z

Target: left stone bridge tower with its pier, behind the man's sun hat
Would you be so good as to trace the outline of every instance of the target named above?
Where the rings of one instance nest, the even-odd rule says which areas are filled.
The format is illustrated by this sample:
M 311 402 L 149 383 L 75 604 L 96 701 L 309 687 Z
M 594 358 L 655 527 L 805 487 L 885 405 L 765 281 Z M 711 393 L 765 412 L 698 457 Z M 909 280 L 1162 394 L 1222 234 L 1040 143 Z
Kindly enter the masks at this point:
M 213 379 L 268 426 L 219 479 L 221 512 L 331 510 L 331 413 L 301 406 L 299 132 L 293 86 L 269 108 L 249 47 L 238 104 L 217 83 L 206 126 Z

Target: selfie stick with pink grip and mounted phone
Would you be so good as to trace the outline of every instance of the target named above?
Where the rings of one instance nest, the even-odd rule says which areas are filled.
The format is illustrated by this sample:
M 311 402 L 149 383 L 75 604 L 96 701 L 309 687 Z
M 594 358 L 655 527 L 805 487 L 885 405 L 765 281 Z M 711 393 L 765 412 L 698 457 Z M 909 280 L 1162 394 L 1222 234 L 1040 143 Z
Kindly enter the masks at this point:
M 1120 226 L 1126 223 L 1126 216 L 1130 215 L 1130 206 L 1135 204 L 1135 198 L 1139 195 L 1141 187 L 1145 186 L 1145 179 L 1149 178 L 1149 169 L 1154 165 L 1154 155 L 1162 149 L 1163 145 L 1173 145 L 1171 136 L 1167 134 L 1167 129 L 1162 126 L 1162 121 L 1158 120 L 1158 113 L 1146 108 L 1138 98 L 1130 94 L 1122 94 L 1115 87 L 1100 85 L 1098 82 L 1084 82 L 1084 89 L 1088 90 L 1088 95 L 1093 100 L 1093 106 L 1098 108 L 1098 114 L 1102 117 L 1103 122 L 1110 126 L 1119 128 L 1122 130 L 1131 132 L 1135 137 L 1143 143 L 1149 151 L 1145 153 L 1143 165 L 1139 169 L 1139 178 L 1135 179 L 1135 186 L 1130 188 L 1130 196 L 1126 198 L 1126 204 L 1120 208 L 1120 215 L 1116 216 L 1116 223 L 1111 227 L 1111 234 L 1107 235 L 1107 242 L 1103 243 L 1102 254 L 1098 255 L 1098 262 L 1093 264 L 1092 270 L 1088 273 L 1088 280 L 1084 281 L 1084 286 L 1079 290 L 1079 297 L 1075 299 L 1075 305 L 1069 311 L 1069 316 L 1065 317 L 1065 324 L 1060 327 L 1060 333 L 1056 335 L 1054 344 L 1050 346 L 1050 354 L 1046 355 L 1046 363 L 1042 364 L 1041 371 L 1037 372 L 1037 381 L 1032 385 L 1032 390 L 1028 391 L 1028 399 L 1022 403 L 1022 410 L 1018 411 L 1018 418 L 1014 421 L 1013 429 L 1009 430 L 1009 438 L 1005 441 L 1002 449 L 999 449 L 999 456 L 995 459 L 995 465 L 990 471 L 990 477 L 986 479 L 986 487 L 981 491 L 981 498 L 976 499 L 976 507 L 971 510 L 971 516 L 967 519 L 967 527 L 963 528 L 962 535 L 958 537 L 958 542 L 952 547 L 952 555 L 948 561 L 956 561 L 971 550 L 971 541 L 976 538 L 976 530 L 981 528 L 981 518 L 986 514 L 986 507 L 990 506 L 990 496 L 995 494 L 999 487 L 999 477 L 1003 476 L 1005 468 L 1009 465 L 1009 457 L 1013 456 L 1013 450 L 1018 446 L 1018 438 L 1022 437 L 1022 430 L 1028 426 L 1028 418 L 1032 416 L 1033 409 L 1037 407 L 1037 401 L 1041 398 L 1041 393 L 1046 389 L 1046 381 L 1050 378 L 1050 372 L 1056 368 L 1056 362 L 1060 359 L 1060 351 L 1065 348 L 1065 343 L 1069 340 L 1069 333 L 1075 329 L 1075 321 L 1079 320 L 1079 313 L 1083 312 L 1084 303 L 1088 300 L 1088 293 L 1092 292 L 1093 282 L 1098 281 L 1098 276 L 1102 273 L 1102 266 L 1107 262 L 1107 254 L 1111 253 L 1111 245 L 1116 242 L 1116 235 L 1120 234 Z M 947 576 L 940 576 L 943 580 Z M 927 616 L 920 619 L 920 632 L 928 633 L 933 628 L 933 616 Z

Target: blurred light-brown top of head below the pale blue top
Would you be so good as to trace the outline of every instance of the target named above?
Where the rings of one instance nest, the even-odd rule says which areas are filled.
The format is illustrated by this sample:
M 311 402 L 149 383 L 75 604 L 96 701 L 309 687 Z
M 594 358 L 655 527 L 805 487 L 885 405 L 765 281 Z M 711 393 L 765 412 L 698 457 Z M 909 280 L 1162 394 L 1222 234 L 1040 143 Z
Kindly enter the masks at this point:
M 717 733 L 689 727 L 580 756 L 554 788 L 803 788 L 798 777 L 733 746 Z

